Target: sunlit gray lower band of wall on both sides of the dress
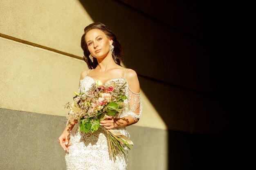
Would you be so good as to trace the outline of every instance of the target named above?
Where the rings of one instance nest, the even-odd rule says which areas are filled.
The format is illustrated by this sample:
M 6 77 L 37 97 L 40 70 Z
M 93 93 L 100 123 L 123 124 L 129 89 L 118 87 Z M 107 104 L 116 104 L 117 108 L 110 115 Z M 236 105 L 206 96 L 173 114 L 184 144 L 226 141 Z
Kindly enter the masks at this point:
M 62 116 L 0 108 L 0 170 L 64 170 L 65 152 L 57 138 L 65 123 Z M 166 130 L 130 126 L 128 131 L 135 144 L 128 155 L 129 170 L 167 168 Z

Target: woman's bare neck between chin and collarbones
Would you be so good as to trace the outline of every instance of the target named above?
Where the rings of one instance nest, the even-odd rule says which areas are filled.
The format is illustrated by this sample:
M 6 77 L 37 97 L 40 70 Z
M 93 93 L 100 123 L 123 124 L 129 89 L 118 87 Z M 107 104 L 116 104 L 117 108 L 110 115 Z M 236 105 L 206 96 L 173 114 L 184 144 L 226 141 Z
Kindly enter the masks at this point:
M 112 58 L 111 53 L 108 53 L 108 55 L 106 57 L 104 57 L 103 59 L 97 58 L 97 61 L 98 61 L 99 65 L 96 67 L 96 69 L 101 70 L 101 72 L 105 72 L 108 69 L 114 68 L 117 66 L 117 64 L 114 62 L 114 60 Z

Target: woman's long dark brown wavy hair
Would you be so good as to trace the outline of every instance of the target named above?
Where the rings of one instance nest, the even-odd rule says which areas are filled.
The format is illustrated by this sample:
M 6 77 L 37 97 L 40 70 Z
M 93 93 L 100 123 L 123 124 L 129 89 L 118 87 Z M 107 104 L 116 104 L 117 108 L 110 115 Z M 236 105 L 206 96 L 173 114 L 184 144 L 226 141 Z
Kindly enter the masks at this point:
M 98 66 L 98 61 L 96 58 L 93 57 L 93 62 L 90 60 L 90 58 L 89 58 L 90 51 L 88 50 L 88 46 L 85 43 L 85 34 L 92 29 L 99 29 L 99 30 L 103 31 L 103 33 L 106 34 L 107 38 L 109 38 L 110 40 L 113 40 L 112 45 L 115 48 L 112 53 L 112 57 L 113 57 L 113 60 L 115 61 L 115 63 L 118 64 L 119 66 L 121 66 L 121 57 L 123 57 L 123 54 L 122 54 L 122 47 L 121 47 L 119 40 L 117 40 L 116 35 L 110 30 L 110 28 L 108 26 L 106 26 L 100 22 L 95 22 L 95 23 L 92 23 L 85 27 L 84 34 L 82 35 L 82 38 L 81 38 L 81 48 L 83 49 L 83 55 L 84 55 L 83 60 L 87 63 L 88 68 L 93 69 Z

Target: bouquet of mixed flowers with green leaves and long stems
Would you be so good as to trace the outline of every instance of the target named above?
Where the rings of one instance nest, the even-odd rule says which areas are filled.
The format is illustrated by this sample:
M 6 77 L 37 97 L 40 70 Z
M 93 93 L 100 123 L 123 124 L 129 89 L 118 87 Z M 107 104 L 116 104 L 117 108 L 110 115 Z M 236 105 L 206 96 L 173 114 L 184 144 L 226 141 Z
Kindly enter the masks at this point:
M 105 115 L 115 117 L 117 113 L 124 110 L 127 104 L 124 100 L 127 99 L 124 91 L 115 86 L 103 86 L 100 80 L 88 89 L 87 93 L 75 93 L 74 102 L 65 104 L 65 108 L 70 109 L 67 119 L 70 124 L 80 121 L 80 131 L 88 133 L 95 132 L 99 129 L 99 121 L 105 119 Z M 106 130 L 106 129 L 105 129 Z M 108 147 L 110 159 L 116 160 L 116 155 L 125 154 L 124 148 L 130 150 L 132 141 L 120 132 L 114 130 L 106 130 L 108 134 Z

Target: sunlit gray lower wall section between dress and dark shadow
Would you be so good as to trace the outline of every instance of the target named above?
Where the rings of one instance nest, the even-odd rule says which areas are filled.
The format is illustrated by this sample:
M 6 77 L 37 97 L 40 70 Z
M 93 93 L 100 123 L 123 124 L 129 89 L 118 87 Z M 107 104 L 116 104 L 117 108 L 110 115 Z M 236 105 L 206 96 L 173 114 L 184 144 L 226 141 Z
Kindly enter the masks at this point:
M 168 130 L 128 126 L 134 146 L 128 155 L 128 170 L 168 169 Z

